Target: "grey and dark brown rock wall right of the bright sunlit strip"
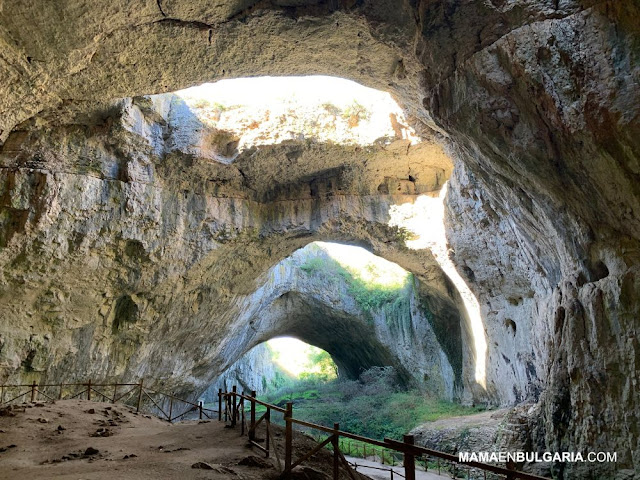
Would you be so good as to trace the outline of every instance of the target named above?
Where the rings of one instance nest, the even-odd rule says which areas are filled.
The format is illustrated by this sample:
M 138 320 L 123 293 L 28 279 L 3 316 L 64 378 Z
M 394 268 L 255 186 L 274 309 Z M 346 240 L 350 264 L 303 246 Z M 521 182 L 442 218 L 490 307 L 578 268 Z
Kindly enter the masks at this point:
M 449 239 L 483 307 L 498 396 L 541 401 L 533 444 L 615 450 L 615 467 L 554 472 L 624 478 L 639 448 L 629 295 L 639 286 L 640 70 L 637 25 L 625 18 L 638 11 L 557 5 L 557 18 L 515 28 L 432 91 L 457 140 Z

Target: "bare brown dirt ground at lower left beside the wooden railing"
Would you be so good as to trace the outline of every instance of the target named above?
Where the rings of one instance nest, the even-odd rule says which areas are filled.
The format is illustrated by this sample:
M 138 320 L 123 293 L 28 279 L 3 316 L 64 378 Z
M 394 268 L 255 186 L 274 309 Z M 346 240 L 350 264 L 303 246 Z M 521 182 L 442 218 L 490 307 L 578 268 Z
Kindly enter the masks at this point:
M 283 459 L 283 431 L 272 428 Z M 294 459 L 314 445 L 296 434 Z M 304 465 L 294 478 L 331 478 L 328 451 Z M 1 480 L 251 480 L 277 478 L 278 472 L 276 459 L 249 447 L 239 427 L 225 428 L 217 420 L 169 424 L 126 405 L 86 400 L 0 410 Z M 341 478 L 348 476 L 342 472 Z

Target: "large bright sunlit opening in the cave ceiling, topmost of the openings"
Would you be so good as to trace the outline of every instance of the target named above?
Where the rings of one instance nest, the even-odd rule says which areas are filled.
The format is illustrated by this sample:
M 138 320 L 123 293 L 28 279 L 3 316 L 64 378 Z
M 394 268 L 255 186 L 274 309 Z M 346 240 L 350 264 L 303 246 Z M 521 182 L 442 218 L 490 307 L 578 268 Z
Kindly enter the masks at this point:
M 326 76 L 221 80 L 175 92 L 201 123 L 204 150 L 219 161 L 245 149 L 288 140 L 336 144 L 418 143 L 404 113 L 387 92 Z M 172 109 L 180 113 L 180 105 Z M 193 124 L 193 122 L 191 122 Z

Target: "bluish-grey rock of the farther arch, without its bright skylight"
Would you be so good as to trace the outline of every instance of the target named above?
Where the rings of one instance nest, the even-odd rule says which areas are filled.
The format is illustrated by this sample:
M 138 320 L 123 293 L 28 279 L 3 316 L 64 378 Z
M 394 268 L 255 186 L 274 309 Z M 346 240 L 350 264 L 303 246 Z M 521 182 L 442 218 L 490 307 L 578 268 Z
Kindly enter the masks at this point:
M 227 343 L 229 348 L 245 352 L 274 336 L 294 336 L 329 352 L 346 377 L 358 378 L 373 366 L 391 365 L 407 384 L 442 398 L 459 397 L 461 352 L 441 346 L 433 315 L 420 305 L 415 286 L 407 287 L 406 308 L 368 312 L 354 299 L 344 277 L 307 269 L 331 262 L 323 250 L 310 247 L 314 245 L 268 272 L 234 322 L 232 330 L 238 334 Z M 224 356 L 238 357 L 226 352 Z

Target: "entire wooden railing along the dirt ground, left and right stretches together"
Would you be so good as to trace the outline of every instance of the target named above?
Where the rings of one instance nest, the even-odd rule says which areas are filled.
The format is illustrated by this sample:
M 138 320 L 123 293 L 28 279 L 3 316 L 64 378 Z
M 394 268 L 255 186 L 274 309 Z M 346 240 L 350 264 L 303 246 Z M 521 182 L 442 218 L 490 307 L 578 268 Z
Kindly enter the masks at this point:
M 124 390 L 124 393 L 123 393 Z M 403 441 L 397 441 L 389 438 L 384 440 L 375 440 L 372 438 L 363 437 L 354 433 L 345 432 L 340 430 L 340 425 L 334 423 L 333 428 L 317 425 L 310 422 L 305 422 L 293 417 L 293 403 L 288 402 L 286 408 L 281 408 L 277 405 L 272 405 L 267 402 L 260 401 L 256 398 L 256 392 L 252 391 L 251 395 L 245 395 L 238 393 L 236 387 L 233 387 L 231 392 L 218 391 L 218 410 L 204 408 L 202 402 L 198 404 L 178 398 L 172 394 L 153 390 L 144 386 L 144 381 L 140 380 L 139 383 L 93 383 L 91 380 L 86 383 L 58 383 L 58 384 L 38 384 L 35 381 L 31 384 L 22 385 L 0 385 L 0 406 L 14 403 L 20 399 L 25 401 L 28 399 L 30 402 L 36 402 L 43 397 L 46 400 L 66 400 L 73 398 L 82 398 L 85 396 L 87 400 L 96 398 L 103 399 L 106 402 L 116 403 L 125 400 L 125 403 L 135 407 L 136 412 L 140 412 L 141 408 L 146 405 L 153 405 L 156 409 L 154 414 L 159 417 L 173 422 L 179 418 L 184 417 L 190 412 L 198 412 L 200 419 L 208 418 L 212 416 L 209 414 L 217 413 L 218 420 L 230 422 L 231 426 L 237 426 L 240 422 L 240 434 L 249 437 L 249 442 L 252 446 L 255 446 L 261 450 L 267 457 L 271 455 L 271 452 L 275 454 L 278 468 L 280 469 L 280 478 L 287 478 L 291 471 L 298 465 L 309 460 L 313 455 L 318 453 L 323 448 L 326 448 L 331 444 L 333 451 L 333 479 L 337 480 L 340 475 L 340 467 L 342 466 L 345 471 L 353 480 L 356 480 L 356 476 L 351 468 L 349 462 L 344 457 L 340 447 L 340 438 L 346 438 L 362 442 L 362 444 L 373 445 L 382 447 L 384 449 L 400 453 L 403 458 L 404 466 L 404 478 L 407 480 L 415 480 L 416 478 L 416 459 L 417 458 L 429 458 L 437 459 L 438 470 L 440 470 L 440 461 L 449 462 L 455 468 L 466 469 L 469 474 L 470 469 L 475 469 L 482 472 L 484 478 L 489 478 L 487 475 L 492 475 L 494 479 L 506 479 L 506 480 L 548 480 L 544 477 L 532 475 L 530 473 L 519 472 L 516 470 L 510 470 L 504 467 L 496 465 L 490 465 L 480 462 L 461 462 L 456 455 L 452 455 L 438 450 L 432 450 L 425 447 L 421 447 L 414 444 L 414 438 L 412 435 L 405 435 Z M 8 398 L 5 398 L 8 397 Z M 155 398 L 154 398 L 155 397 Z M 157 398 L 160 397 L 161 400 Z M 145 403 L 143 403 L 143 399 Z M 148 400 L 150 403 L 147 403 Z M 249 403 L 249 423 L 246 419 L 246 404 Z M 167 406 L 168 404 L 168 406 Z M 187 405 L 186 410 L 182 413 L 174 415 L 174 408 L 179 405 Z M 266 410 L 260 416 L 257 417 L 256 406 L 262 406 Z M 184 407 L 183 407 L 184 408 Z M 285 445 L 284 445 L 284 459 L 280 458 L 280 453 L 275 448 L 275 437 L 272 434 L 271 429 L 271 416 L 272 412 L 282 414 L 283 421 L 285 423 Z M 264 424 L 265 426 L 265 439 L 264 445 L 258 442 L 256 437 L 257 428 Z M 318 444 L 300 456 L 297 459 L 293 458 L 293 425 L 305 427 L 314 431 L 327 434 L 327 438 L 319 441 Z M 428 462 L 425 462 L 428 463 Z M 392 471 L 393 475 L 393 471 Z M 397 473 L 396 473 L 397 475 Z M 455 470 L 454 470 L 455 475 Z M 402 476 L 402 475 L 401 475 Z M 393 477 L 392 477 L 393 478 Z

